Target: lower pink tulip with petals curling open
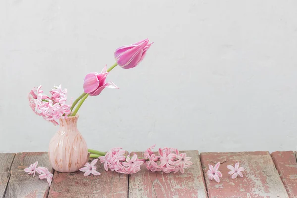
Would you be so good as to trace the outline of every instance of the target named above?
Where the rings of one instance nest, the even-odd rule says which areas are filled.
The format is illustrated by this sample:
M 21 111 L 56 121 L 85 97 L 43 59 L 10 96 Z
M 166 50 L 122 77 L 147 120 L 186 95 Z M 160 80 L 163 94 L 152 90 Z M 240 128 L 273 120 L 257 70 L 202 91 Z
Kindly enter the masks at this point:
M 113 82 L 105 83 L 107 75 L 107 65 L 105 65 L 101 73 L 91 72 L 87 74 L 84 80 L 84 92 L 90 96 L 97 96 L 105 87 L 119 89 Z

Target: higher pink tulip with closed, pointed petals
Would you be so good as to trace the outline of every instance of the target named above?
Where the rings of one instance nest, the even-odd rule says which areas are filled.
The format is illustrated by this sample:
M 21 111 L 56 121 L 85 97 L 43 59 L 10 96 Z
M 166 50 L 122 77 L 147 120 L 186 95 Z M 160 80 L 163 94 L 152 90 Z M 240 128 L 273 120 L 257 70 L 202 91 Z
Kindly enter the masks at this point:
M 145 57 L 146 51 L 151 44 L 149 39 L 139 41 L 135 44 L 121 46 L 114 52 L 114 58 L 119 66 L 124 69 L 136 67 Z

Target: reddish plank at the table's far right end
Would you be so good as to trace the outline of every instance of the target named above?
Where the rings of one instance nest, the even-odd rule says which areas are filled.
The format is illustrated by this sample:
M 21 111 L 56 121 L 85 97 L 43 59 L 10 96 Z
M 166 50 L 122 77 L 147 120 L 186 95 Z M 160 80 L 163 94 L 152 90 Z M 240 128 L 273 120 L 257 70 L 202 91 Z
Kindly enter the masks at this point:
M 271 153 L 276 169 L 290 198 L 297 198 L 297 162 L 293 151 Z

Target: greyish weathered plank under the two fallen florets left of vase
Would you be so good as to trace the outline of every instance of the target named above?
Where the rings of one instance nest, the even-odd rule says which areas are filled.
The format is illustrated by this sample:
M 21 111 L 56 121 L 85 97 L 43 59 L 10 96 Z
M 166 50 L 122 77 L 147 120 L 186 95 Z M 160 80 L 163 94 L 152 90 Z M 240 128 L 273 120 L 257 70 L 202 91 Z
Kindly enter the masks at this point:
M 26 167 L 38 161 L 38 166 L 44 166 L 53 171 L 49 163 L 47 152 L 23 152 L 15 155 L 11 166 L 11 176 L 5 198 L 46 198 L 49 193 L 49 184 L 40 180 L 38 174 L 33 177 L 24 172 Z

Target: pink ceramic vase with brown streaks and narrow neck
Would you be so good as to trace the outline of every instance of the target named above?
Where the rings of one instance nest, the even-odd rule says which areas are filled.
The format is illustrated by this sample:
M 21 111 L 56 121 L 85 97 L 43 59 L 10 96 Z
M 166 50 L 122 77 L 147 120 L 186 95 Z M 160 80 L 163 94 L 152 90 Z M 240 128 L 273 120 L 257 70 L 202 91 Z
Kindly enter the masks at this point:
M 59 172 L 75 172 L 87 161 L 88 148 L 77 129 L 78 114 L 60 119 L 60 128 L 49 143 L 49 161 Z

